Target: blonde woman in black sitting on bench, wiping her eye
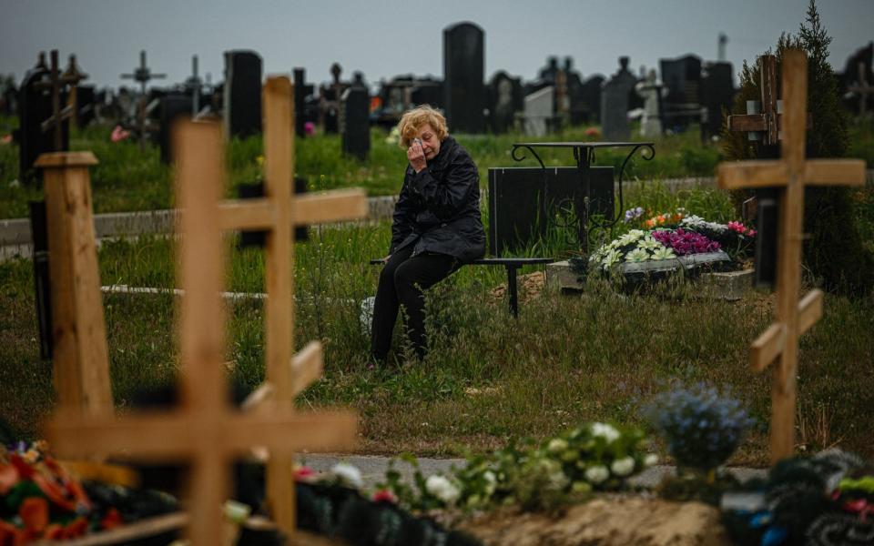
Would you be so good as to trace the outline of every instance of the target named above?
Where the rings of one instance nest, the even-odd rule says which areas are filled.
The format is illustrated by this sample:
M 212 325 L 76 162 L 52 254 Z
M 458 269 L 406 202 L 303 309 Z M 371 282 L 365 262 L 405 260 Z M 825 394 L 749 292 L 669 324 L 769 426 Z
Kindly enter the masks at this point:
M 401 117 L 398 129 L 410 164 L 373 305 L 371 353 L 379 361 L 388 355 L 401 305 L 412 347 L 424 356 L 422 290 L 485 253 L 479 174 L 467 150 L 449 136 L 446 119 L 431 106 L 419 106 Z

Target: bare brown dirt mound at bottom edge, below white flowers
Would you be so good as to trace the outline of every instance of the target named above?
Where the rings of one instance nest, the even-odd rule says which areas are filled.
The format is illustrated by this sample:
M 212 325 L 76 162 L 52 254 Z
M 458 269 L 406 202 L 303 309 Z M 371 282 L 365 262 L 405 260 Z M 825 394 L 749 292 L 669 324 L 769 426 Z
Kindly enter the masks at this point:
M 727 546 L 719 511 L 698 502 L 599 497 L 562 516 L 496 511 L 460 528 L 487 546 Z

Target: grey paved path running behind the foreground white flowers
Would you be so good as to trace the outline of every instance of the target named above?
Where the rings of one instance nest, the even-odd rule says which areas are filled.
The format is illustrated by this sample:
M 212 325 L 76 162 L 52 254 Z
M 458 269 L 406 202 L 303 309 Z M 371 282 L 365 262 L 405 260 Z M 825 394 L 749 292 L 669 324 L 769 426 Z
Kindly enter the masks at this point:
M 309 466 L 312 470 L 327 471 L 338 462 L 347 462 L 359 470 L 361 470 L 361 478 L 365 488 L 372 488 L 379 481 L 384 480 L 385 470 L 389 468 L 389 460 L 391 457 L 381 457 L 375 455 L 342 455 L 342 454 L 306 454 L 299 455 L 298 459 L 301 464 Z M 463 459 L 419 459 L 419 467 L 422 474 L 425 476 L 444 472 L 448 473 L 454 465 L 461 467 L 464 464 Z M 412 479 L 412 467 L 402 460 L 398 460 L 395 464 L 395 469 L 399 470 L 404 479 Z M 656 465 L 651 469 L 645 470 L 643 473 L 635 476 L 630 480 L 633 487 L 655 487 L 667 474 L 673 473 L 676 468 L 670 465 Z M 767 470 L 753 469 L 748 467 L 732 467 L 728 469 L 738 480 L 749 480 L 751 478 L 764 478 Z

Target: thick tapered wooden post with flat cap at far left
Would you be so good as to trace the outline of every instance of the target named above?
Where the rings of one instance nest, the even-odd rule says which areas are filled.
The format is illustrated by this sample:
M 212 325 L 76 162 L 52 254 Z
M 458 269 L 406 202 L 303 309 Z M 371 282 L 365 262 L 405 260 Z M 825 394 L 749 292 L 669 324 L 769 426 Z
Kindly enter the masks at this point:
M 91 183 L 91 152 L 43 154 L 46 231 L 58 404 L 89 415 L 111 414 L 107 328 L 100 294 Z

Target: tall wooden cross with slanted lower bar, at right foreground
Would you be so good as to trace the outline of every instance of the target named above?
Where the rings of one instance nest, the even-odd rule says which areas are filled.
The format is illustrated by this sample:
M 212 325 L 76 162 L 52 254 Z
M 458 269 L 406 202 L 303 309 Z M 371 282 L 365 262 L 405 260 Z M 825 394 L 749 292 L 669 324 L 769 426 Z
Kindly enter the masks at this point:
M 798 302 L 801 283 L 804 187 L 859 186 L 865 162 L 859 159 L 805 160 L 808 103 L 808 58 L 788 49 L 783 56 L 785 107 L 781 159 L 720 163 L 719 187 L 779 187 L 777 235 L 777 308 L 775 323 L 750 348 L 752 367 L 765 369 L 777 360 L 771 390 L 771 459 L 790 457 L 795 447 L 798 336 L 822 316 L 822 292 L 811 290 Z

